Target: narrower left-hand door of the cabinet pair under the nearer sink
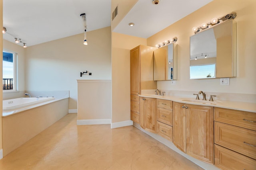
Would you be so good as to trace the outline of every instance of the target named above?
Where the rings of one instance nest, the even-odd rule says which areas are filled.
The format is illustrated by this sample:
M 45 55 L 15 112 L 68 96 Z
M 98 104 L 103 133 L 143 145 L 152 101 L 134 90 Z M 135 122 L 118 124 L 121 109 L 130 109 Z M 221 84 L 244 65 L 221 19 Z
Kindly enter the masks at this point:
M 184 103 L 173 102 L 173 144 L 186 153 L 186 109 Z M 184 108 L 183 108 L 184 107 Z

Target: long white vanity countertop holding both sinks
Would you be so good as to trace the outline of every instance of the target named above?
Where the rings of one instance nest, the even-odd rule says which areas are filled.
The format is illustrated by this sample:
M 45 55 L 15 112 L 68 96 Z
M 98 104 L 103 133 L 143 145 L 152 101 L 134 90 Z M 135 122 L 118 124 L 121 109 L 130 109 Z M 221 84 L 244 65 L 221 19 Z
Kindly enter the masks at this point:
M 179 102 L 184 104 L 222 107 L 226 109 L 235 109 L 235 110 L 250 111 L 250 112 L 256 113 L 256 103 L 250 103 L 250 102 L 238 102 L 238 101 L 228 101 L 228 100 L 216 100 L 214 102 L 210 102 L 210 101 L 203 101 L 203 100 L 195 100 L 194 98 L 186 98 L 184 96 L 160 96 L 160 95 L 154 95 L 154 94 L 142 94 L 139 96 L 145 97 L 145 98 L 158 98 L 158 99 L 164 99 L 164 100 L 172 100 L 173 102 Z

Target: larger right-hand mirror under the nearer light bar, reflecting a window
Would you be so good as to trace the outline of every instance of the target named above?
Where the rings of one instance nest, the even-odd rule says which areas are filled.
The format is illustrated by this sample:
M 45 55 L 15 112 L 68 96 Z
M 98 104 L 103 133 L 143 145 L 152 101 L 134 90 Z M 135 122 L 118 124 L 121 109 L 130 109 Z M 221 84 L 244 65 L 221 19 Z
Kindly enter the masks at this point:
M 228 20 L 190 37 L 190 79 L 236 76 L 236 22 Z

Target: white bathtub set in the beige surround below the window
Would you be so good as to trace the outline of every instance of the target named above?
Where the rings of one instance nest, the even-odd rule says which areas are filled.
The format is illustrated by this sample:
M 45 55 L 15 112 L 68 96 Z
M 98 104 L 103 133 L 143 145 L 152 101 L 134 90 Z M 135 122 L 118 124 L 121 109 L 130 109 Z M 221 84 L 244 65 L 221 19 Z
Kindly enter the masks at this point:
M 13 109 L 19 109 L 26 106 L 32 106 L 35 104 L 43 103 L 49 100 L 54 100 L 54 97 L 46 98 L 16 98 L 3 100 L 3 111 L 9 111 Z

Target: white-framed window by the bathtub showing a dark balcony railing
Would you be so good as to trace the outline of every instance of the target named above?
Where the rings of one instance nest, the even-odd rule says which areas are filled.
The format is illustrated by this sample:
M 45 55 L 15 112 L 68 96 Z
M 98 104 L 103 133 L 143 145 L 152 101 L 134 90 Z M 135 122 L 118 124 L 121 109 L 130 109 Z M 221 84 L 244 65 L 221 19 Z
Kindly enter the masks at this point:
M 16 54 L 3 51 L 3 92 L 16 90 Z

